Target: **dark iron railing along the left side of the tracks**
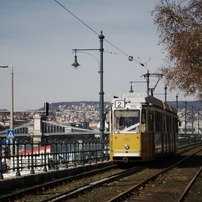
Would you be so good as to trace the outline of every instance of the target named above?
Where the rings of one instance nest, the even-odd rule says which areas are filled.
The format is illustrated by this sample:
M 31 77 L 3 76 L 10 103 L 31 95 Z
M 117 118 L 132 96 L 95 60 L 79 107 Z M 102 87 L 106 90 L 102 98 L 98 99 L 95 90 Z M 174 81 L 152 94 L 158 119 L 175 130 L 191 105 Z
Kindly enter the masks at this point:
M 54 141 L 34 143 L 33 141 L 15 141 L 7 145 L 9 151 L 5 154 L 5 145 L 0 143 L 0 179 L 3 179 L 4 172 L 16 171 L 16 176 L 20 172 L 28 170 L 30 174 L 41 170 L 58 170 L 70 166 L 83 166 L 85 164 L 97 163 L 98 161 L 109 160 L 109 141 L 104 141 L 104 150 L 101 150 L 100 141 L 73 142 Z M 14 149 L 14 154 L 10 155 L 10 148 Z

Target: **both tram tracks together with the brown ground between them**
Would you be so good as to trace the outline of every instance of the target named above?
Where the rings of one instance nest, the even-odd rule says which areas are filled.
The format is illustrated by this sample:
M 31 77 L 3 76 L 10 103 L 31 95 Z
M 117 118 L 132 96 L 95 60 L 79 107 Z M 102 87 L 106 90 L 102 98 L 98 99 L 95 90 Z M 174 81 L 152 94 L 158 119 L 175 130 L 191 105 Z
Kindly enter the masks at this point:
M 196 148 L 195 148 L 196 150 Z M 197 149 L 199 152 L 199 149 Z M 4 198 L 0 198 L 0 201 L 180 201 L 180 197 L 182 200 L 185 198 L 186 193 L 190 190 L 190 186 L 188 184 L 192 181 L 193 175 L 197 173 L 197 169 L 199 165 L 195 163 L 198 162 L 201 165 L 202 162 L 202 153 L 201 155 L 195 154 L 190 155 L 188 158 L 189 151 L 186 151 L 184 154 L 181 154 L 180 157 L 176 157 L 174 159 L 170 159 L 169 161 L 175 161 L 171 166 L 171 163 L 167 160 L 164 163 L 160 163 L 157 166 L 151 166 L 148 168 L 144 167 L 135 167 L 130 168 L 128 170 L 119 170 L 116 168 L 105 168 L 99 169 L 96 171 L 97 173 L 93 174 L 93 172 L 85 173 L 84 175 L 77 175 L 77 179 L 74 177 L 58 180 L 58 182 L 47 183 L 44 185 L 40 185 L 40 187 L 35 187 L 36 189 L 30 188 L 27 192 L 14 193 L 13 196 L 6 196 Z M 200 156 L 200 158 L 199 158 Z M 183 160 L 182 160 L 183 157 Z M 193 162 L 188 162 L 190 159 L 193 159 Z M 200 160 L 200 161 L 199 161 Z M 193 168 L 191 168 L 190 165 Z M 180 173 L 188 171 L 183 171 L 183 169 L 187 168 L 188 171 L 193 173 L 189 177 L 183 175 L 180 177 Z M 178 170 L 179 169 L 179 170 Z M 108 172 L 108 173 L 107 173 Z M 135 174 L 136 173 L 136 174 Z M 93 176 L 88 178 L 89 176 Z M 95 177 L 97 176 L 97 177 Z M 186 178 L 186 183 L 185 183 Z M 80 180 L 78 180 L 80 179 Z M 68 185 L 67 185 L 68 181 Z M 194 180 L 193 180 L 194 181 Z M 56 184 L 57 185 L 56 185 Z M 169 185 L 169 183 L 171 185 Z M 168 190 L 173 188 L 172 184 L 178 184 L 178 187 L 181 187 L 181 184 L 184 184 L 183 189 L 178 189 L 178 197 L 177 200 L 167 200 L 166 198 L 169 194 Z M 58 184 L 60 186 L 58 186 Z M 185 187 L 185 184 L 187 185 Z M 163 186 L 163 187 L 162 187 Z M 63 187 L 63 188 L 60 188 Z M 185 193 L 185 189 L 187 191 Z M 37 191 L 36 191 L 37 190 Z M 166 196 L 162 193 L 165 190 Z M 171 189 L 172 190 L 172 189 Z M 155 196 L 156 193 L 156 196 Z M 160 194 L 159 194 L 160 193 Z M 176 193 L 172 190 L 172 193 L 176 195 Z M 184 193 L 184 196 L 180 194 Z M 24 197 L 22 197 L 24 195 Z M 46 195 L 46 197 L 45 197 Z M 158 198 L 157 198 L 158 196 Z M 161 196 L 161 198 L 159 198 Z M 12 198 L 13 197 L 13 198 Z M 37 199 L 39 197 L 39 199 Z

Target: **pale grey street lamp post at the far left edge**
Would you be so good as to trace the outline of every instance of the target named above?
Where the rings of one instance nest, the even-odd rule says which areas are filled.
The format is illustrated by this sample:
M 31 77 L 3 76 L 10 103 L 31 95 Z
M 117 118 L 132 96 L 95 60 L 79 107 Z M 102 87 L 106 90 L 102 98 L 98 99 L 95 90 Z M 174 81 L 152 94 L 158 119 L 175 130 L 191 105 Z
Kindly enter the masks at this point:
M 13 130 L 13 110 L 14 110 L 14 88 L 13 88 L 13 66 L 0 65 L 0 68 L 11 68 L 11 97 L 10 97 L 10 130 Z M 11 138 L 12 141 L 12 138 Z M 12 145 L 12 142 L 11 142 Z M 11 146 L 11 155 L 13 155 L 13 147 Z

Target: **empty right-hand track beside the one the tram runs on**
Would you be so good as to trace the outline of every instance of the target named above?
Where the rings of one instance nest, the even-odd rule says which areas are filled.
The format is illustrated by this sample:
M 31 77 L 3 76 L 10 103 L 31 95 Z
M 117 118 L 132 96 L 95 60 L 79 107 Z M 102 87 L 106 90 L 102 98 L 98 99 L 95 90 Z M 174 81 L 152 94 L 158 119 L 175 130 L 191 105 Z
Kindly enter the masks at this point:
M 200 161 L 202 161 L 202 149 L 200 149 L 113 199 L 108 200 L 108 202 L 124 201 L 126 199 L 128 202 L 137 200 L 150 202 L 184 201 L 185 197 L 189 195 L 190 188 L 202 171 L 202 167 L 199 167 L 202 163 L 197 163 L 197 154 L 200 155 Z M 191 200 L 187 199 L 187 201 Z

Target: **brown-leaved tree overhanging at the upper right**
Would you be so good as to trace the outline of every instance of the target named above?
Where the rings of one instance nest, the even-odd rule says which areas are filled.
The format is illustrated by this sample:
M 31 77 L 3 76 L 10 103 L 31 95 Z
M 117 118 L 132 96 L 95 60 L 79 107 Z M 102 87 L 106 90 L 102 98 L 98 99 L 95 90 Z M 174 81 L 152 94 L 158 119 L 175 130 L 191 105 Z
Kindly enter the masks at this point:
M 152 15 L 168 52 L 160 69 L 167 85 L 202 100 L 202 1 L 160 0 Z

